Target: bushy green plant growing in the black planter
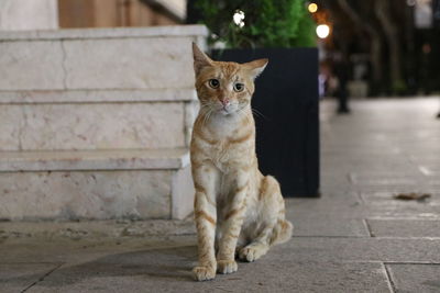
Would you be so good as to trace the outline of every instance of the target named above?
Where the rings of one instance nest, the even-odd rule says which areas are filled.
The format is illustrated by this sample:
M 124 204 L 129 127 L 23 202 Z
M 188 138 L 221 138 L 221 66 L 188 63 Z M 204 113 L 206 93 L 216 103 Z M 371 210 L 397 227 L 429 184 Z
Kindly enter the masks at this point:
M 196 0 L 196 9 L 212 33 L 211 43 L 239 48 L 316 46 L 316 25 L 305 0 Z M 241 11 L 243 23 L 235 23 L 233 15 Z

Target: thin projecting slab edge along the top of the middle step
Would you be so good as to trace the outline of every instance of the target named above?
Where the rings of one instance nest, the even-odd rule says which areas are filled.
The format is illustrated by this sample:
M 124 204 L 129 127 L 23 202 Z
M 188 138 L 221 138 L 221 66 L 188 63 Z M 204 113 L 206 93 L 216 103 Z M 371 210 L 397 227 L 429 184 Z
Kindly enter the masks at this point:
M 194 88 L 0 91 L 0 104 L 196 101 Z

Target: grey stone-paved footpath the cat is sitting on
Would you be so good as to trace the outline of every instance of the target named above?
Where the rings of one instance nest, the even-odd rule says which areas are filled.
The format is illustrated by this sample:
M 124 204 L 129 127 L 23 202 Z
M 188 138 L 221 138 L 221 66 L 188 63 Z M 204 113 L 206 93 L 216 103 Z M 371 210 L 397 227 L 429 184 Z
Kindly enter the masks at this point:
M 321 103 L 322 198 L 287 200 L 294 238 L 237 273 L 190 279 L 190 221 L 0 223 L 0 292 L 440 292 L 439 99 L 351 106 Z

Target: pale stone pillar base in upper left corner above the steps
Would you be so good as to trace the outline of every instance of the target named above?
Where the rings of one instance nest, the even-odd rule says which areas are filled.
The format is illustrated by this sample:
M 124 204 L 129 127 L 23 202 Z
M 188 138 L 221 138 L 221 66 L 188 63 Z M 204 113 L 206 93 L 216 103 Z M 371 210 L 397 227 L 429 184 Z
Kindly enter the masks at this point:
M 0 0 L 0 31 L 56 29 L 57 0 Z

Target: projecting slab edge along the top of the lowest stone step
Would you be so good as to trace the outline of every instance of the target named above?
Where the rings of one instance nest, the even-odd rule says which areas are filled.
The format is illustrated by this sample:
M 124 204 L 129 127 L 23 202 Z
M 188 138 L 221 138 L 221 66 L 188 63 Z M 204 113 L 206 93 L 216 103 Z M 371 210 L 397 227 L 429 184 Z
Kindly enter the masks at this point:
M 0 153 L 0 172 L 162 170 L 182 169 L 188 165 L 186 148 Z

